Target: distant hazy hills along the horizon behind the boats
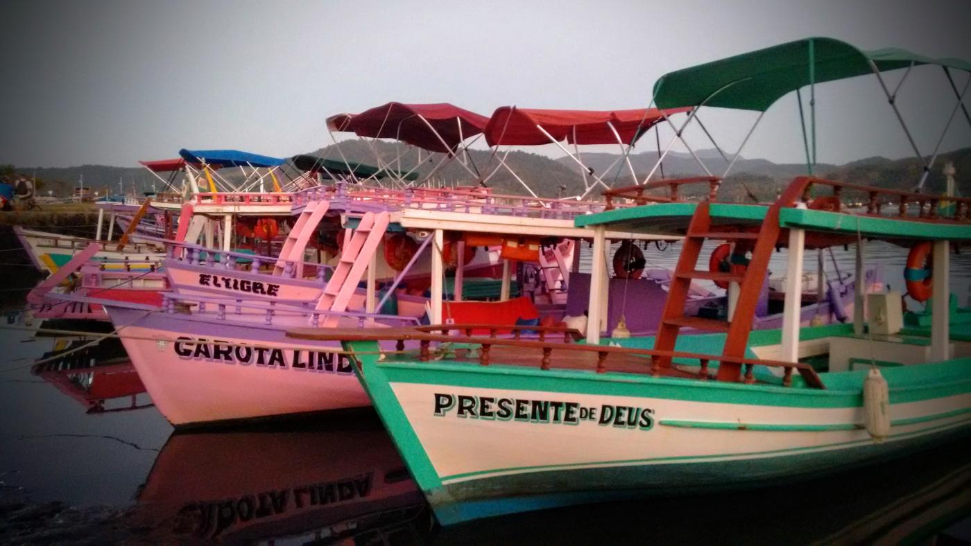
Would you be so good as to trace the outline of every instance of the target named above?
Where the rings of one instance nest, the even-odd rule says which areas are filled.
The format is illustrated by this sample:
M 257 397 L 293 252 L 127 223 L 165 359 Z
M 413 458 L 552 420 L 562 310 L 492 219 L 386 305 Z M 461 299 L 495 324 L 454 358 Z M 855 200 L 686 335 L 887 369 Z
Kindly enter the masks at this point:
M 435 180 L 451 183 L 474 184 L 484 179 L 486 185 L 499 193 L 527 194 L 519 179 L 504 166 L 508 165 L 519 178 L 529 184 L 538 195 L 578 195 L 583 192 L 584 183 L 581 168 L 570 157 L 552 159 L 546 155 L 524 151 L 496 153 L 492 150 L 470 150 L 460 154 L 436 168 L 444 154 L 420 151 L 413 146 L 395 145 L 387 142 L 345 141 L 339 145 L 329 145 L 312 152 L 321 157 L 358 161 L 370 165 L 381 163 L 385 167 L 419 173 L 421 177 L 433 173 Z M 715 149 L 701 149 L 696 152 L 715 174 L 721 174 L 727 163 Z M 376 160 L 376 157 L 378 158 Z M 619 161 L 617 153 L 582 153 L 584 164 L 604 181 L 614 186 L 633 183 L 630 168 L 626 162 Z M 419 161 L 420 159 L 420 161 Z M 630 166 L 638 179 L 643 180 L 651 172 L 657 161 L 656 151 L 643 151 L 629 157 Z M 730 158 L 729 158 L 730 159 Z M 460 161 L 459 161 L 460 160 Z M 971 179 L 971 147 L 942 153 L 927 177 L 924 189 L 940 192 L 944 189 L 941 168 L 946 161 L 953 161 L 957 171 L 958 188 L 965 186 L 962 180 Z M 285 169 L 286 171 L 287 169 Z M 40 191 L 53 191 L 54 195 L 70 195 L 78 186 L 79 178 L 84 176 L 84 186 L 97 191 L 118 192 L 118 181 L 123 181 L 125 191 L 130 192 L 132 185 L 138 193 L 162 189 L 163 184 L 142 168 L 111 167 L 106 165 L 83 165 L 67 168 L 17 168 L 17 173 L 26 177 L 34 176 L 40 180 Z M 292 173 L 292 172 L 291 172 Z M 894 189 L 911 189 L 921 177 L 921 163 L 916 158 L 887 159 L 868 157 L 851 161 L 845 165 L 819 164 L 817 176 L 834 180 L 851 181 L 865 185 L 875 185 Z M 688 153 L 670 152 L 663 163 L 664 177 L 691 177 L 703 175 L 704 171 Z M 762 201 L 772 200 L 781 188 L 793 178 L 806 174 L 806 166 L 793 163 L 773 163 L 766 159 L 740 157 L 732 168 L 731 174 L 723 182 L 720 195 L 724 199 L 745 201 L 753 194 Z M 232 176 L 227 173 L 226 175 Z M 656 177 L 660 177 L 658 169 Z M 560 190 L 560 187 L 564 188 Z M 701 192 L 703 188 L 697 188 Z M 971 187 L 963 188 L 971 195 Z

